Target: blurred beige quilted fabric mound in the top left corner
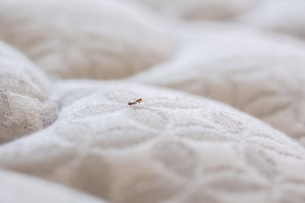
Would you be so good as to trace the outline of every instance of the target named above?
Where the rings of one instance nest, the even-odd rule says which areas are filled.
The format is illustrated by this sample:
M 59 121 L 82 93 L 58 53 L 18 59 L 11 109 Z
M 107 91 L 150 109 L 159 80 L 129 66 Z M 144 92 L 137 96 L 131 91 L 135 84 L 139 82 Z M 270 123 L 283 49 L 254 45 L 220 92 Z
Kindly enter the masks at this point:
M 172 50 L 161 20 L 115 0 L 2 0 L 0 28 L 0 39 L 56 78 L 124 77 Z

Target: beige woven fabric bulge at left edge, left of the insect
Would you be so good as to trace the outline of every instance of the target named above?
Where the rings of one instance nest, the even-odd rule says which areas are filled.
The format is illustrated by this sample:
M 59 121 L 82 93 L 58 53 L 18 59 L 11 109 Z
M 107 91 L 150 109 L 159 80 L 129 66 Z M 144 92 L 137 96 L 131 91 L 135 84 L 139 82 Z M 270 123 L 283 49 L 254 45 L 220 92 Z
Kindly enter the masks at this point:
M 0 143 L 50 126 L 56 110 L 48 77 L 0 42 Z

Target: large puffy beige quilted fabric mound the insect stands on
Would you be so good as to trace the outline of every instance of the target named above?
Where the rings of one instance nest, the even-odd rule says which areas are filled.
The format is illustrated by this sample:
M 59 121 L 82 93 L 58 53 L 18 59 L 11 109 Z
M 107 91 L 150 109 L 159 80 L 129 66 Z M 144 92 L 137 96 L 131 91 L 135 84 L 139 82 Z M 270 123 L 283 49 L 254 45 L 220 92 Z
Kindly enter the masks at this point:
M 305 200 L 304 148 L 231 107 L 118 81 L 57 88 L 56 122 L 1 146 L 2 167 L 118 203 Z

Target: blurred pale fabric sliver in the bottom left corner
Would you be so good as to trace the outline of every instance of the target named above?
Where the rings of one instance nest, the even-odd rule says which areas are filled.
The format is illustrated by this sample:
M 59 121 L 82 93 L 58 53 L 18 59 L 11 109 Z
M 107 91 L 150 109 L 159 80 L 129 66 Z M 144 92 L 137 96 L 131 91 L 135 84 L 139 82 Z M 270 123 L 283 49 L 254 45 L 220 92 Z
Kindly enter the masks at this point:
M 0 180 L 0 200 L 5 203 L 104 202 L 88 194 L 12 171 L 0 170 Z

